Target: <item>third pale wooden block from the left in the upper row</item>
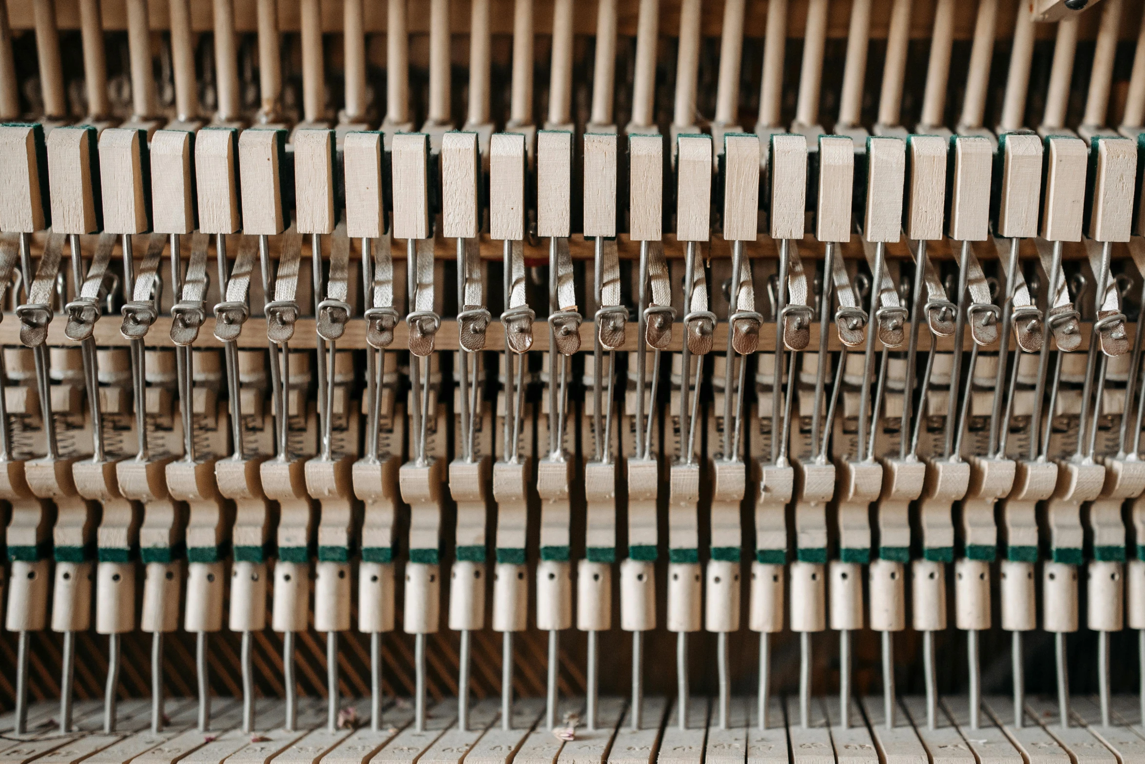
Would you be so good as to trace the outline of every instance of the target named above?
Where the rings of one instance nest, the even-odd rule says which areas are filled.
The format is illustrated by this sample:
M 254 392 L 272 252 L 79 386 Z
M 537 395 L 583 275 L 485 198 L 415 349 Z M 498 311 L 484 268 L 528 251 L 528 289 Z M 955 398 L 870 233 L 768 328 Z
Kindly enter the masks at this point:
M 108 233 L 145 233 L 151 228 L 150 157 L 147 133 L 110 128 L 100 136 L 103 229 Z

